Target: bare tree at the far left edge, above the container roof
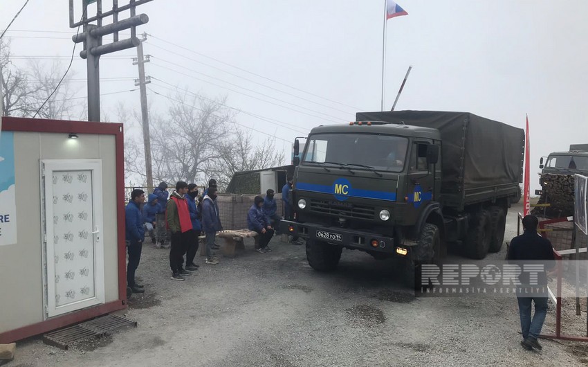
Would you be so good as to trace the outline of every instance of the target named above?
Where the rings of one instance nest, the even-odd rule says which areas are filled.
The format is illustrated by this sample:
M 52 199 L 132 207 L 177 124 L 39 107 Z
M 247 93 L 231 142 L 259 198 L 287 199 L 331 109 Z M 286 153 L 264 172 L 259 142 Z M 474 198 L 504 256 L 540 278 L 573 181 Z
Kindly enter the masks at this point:
M 2 83 L 4 115 L 28 116 L 35 107 L 31 99 L 35 89 L 28 84 L 26 72 L 10 60 L 10 41 L 0 39 L 0 83 Z

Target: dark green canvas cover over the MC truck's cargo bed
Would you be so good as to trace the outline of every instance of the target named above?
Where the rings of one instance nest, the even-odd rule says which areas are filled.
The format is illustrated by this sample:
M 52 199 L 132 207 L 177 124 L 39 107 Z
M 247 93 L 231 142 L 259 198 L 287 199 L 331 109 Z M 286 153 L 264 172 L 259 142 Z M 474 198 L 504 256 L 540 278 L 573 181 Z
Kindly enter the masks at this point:
M 472 188 L 522 182 L 524 131 L 468 112 L 358 112 L 358 121 L 385 121 L 441 132 L 441 191 L 461 193 Z

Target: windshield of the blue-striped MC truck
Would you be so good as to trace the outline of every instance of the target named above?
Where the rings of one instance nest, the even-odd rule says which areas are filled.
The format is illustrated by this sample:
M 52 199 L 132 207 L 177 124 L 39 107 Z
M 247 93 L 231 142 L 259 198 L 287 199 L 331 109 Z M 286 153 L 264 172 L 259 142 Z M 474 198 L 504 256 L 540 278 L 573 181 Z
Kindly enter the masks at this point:
M 401 172 L 408 139 L 376 134 L 315 134 L 306 145 L 302 163 L 334 163 L 353 165 L 353 170 Z

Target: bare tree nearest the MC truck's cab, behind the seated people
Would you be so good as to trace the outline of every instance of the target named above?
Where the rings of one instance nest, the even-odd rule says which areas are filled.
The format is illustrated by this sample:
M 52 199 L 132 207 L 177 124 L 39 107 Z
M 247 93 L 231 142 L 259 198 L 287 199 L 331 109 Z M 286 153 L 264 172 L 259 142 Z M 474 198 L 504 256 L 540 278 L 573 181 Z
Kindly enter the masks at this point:
M 231 138 L 217 145 L 219 158 L 210 162 L 208 174 L 226 188 L 235 172 L 261 170 L 282 165 L 283 157 L 275 148 L 275 138 L 268 136 L 255 145 L 250 132 L 236 129 Z

